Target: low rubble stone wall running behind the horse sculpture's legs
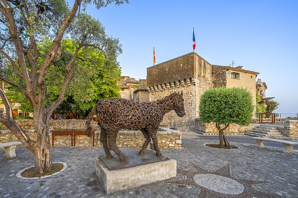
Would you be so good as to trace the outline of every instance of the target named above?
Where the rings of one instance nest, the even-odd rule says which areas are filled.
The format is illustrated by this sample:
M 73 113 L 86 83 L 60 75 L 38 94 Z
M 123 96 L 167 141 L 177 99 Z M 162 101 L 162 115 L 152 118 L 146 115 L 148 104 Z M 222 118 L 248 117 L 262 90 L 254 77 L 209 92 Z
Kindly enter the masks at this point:
M 160 148 L 181 148 L 181 132 L 171 129 L 162 128 L 164 131 L 157 132 L 158 145 Z M 49 131 L 50 142 L 52 143 L 52 130 Z M 25 130 L 26 134 L 33 140 L 36 140 L 37 135 L 35 130 Z M 0 143 L 19 141 L 10 130 L 0 131 Z M 102 147 L 99 141 L 100 131 L 94 133 L 95 147 Z M 145 142 L 144 135 L 140 131 L 120 131 L 117 136 L 118 147 L 139 147 L 141 148 Z M 54 146 L 63 145 L 71 146 L 70 135 L 54 135 Z M 93 139 L 86 135 L 76 135 L 76 146 L 93 146 Z

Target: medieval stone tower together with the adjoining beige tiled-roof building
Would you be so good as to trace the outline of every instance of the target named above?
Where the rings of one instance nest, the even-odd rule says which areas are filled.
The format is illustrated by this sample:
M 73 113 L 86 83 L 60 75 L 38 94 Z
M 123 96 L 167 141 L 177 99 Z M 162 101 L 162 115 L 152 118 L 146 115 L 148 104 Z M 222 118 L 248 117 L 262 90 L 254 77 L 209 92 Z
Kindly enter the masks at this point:
M 183 91 L 186 115 L 180 118 L 175 111 L 164 116 L 161 126 L 193 126 L 199 117 L 201 95 L 214 87 L 249 89 L 256 98 L 256 77 L 259 73 L 242 69 L 212 65 L 195 52 L 179 56 L 147 68 L 147 86 L 150 101 L 156 101 L 173 92 Z

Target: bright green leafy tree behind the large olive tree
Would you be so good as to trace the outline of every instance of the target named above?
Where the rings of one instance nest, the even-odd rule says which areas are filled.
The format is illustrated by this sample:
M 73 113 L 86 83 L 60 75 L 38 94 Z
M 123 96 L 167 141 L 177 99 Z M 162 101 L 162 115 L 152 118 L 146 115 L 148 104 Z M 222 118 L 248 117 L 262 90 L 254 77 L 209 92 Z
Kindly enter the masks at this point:
M 44 42 L 38 45 L 41 56 L 37 60 L 37 64 L 41 65 L 46 54 L 52 45 L 49 38 L 45 38 Z M 115 43 L 115 45 L 117 45 Z M 60 58 L 51 65 L 46 75 L 46 100 L 44 106 L 48 107 L 54 102 L 62 88 L 63 82 L 67 76 L 65 65 L 70 61 L 78 43 L 73 39 L 64 39 L 61 47 L 62 52 Z M 97 101 L 105 98 L 119 98 L 119 86 L 117 81 L 121 78 L 121 70 L 119 63 L 109 61 L 107 63 L 103 53 L 93 47 L 82 48 L 77 54 L 75 61 L 74 77 L 69 83 L 64 101 L 57 107 L 53 113 L 65 114 L 79 111 L 79 113 L 87 114 L 96 105 Z M 114 56 L 114 55 L 113 55 Z M 7 72 L 7 71 L 6 71 Z M 15 76 L 10 75 L 10 80 L 14 80 Z M 33 113 L 32 104 L 25 98 L 18 88 L 9 85 L 9 91 L 6 95 L 9 99 L 14 99 L 12 102 L 21 104 L 18 107 L 24 112 Z

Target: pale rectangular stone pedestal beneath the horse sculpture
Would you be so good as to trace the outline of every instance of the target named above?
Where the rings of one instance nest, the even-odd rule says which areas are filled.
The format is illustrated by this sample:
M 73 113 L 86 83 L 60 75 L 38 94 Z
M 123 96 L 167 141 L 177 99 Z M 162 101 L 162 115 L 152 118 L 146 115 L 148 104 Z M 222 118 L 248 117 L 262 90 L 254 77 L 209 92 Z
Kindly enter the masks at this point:
M 95 172 L 106 194 L 111 194 L 176 178 L 176 160 L 169 159 L 118 170 L 109 170 L 99 157 L 95 157 Z

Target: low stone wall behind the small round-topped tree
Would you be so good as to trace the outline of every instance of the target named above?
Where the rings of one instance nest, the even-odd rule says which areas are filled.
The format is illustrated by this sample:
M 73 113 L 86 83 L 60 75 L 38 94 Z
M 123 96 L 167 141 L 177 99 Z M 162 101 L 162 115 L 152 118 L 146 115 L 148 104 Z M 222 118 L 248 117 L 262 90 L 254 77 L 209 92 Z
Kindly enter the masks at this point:
M 226 130 L 224 130 L 225 134 L 244 134 L 245 132 L 249 131 L 250 129 L 253 129 L 257 127 L 260 124 L 253 124 L 251 123 L 249 126 L 240 126 L 238 124 L 230 124 Z M 200 121 L 199 118 L 195 118 L 195 130 L 197 130 L 201 134 L 205 135 L 214 135 L 218 134 L 218 129 L 215 126 L 214 122 L 211 123 L 203 123 Z

